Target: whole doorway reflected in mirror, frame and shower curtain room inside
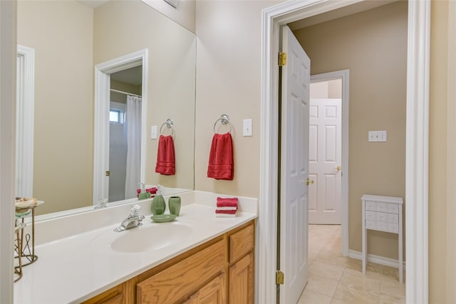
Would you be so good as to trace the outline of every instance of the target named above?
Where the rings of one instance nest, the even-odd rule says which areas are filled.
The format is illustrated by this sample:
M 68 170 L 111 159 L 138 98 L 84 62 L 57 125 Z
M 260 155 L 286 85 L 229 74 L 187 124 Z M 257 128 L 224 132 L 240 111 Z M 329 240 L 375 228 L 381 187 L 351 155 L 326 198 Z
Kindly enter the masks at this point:
M 135 83 L 136 92 L 128 92 L 125 90 L 125 79 L 133 79 L 132 73 L 135 73 L 135 80 L 128 80 Z M 125 76 L 127 75 L 127 76 Z M 113 76 L 113 79 L 111 77 Z M 123 81 L 120 81 L 123 80 Z M 126 106 L 125 112 L 121 110 L 119 106 L 111 108 L 111 95 L 112 93 L 125 96 L 130 95 L 133 98 L 140 98 L 140 105 L 137 109 L 137 116 L 140 117 L 140 124 L 136 126 L 140 133 L 140 143 L 136 143 L 135 150 L 139 150 L 139 164 L 137 171 L 139 171 L 139 182 L 143 182 L 145 179 L 144 166 L 140 164 L 145 163 L 145 146 L 146 146 L 146 112 L 147 112 L 147 49 L 130 53 L 128 55 L 115 58 L 105 63 L 95 65 L 95 142 L 94 142 L 94 165 L 93 165 L 93 204 L 98 206 L 99 204 L 105 204 L 110 197 L 110 115 L 112 113 L 112 119 L 115 120 L 117 117 L 117 124 L 120 122 L 126 122 Z M 116 87 L 116 85 L 118 85 Z M 121 90 L 116 90 L 120 88 Z M 111 91 L 112 90 L 112 91 Z M 128 98 L 127 98 L 128 99 Z M 115 100 L 114 100 L 115 101 Z M 113 111 L 111 111 L 113 109 Z M 108 114 L 109 113 L 109 114 Z M 139 119 L 133 120 L 138 122 Z M 125 152 L 125 151 L 124 151 Z M 136 152 L 136 159 L 138 161 L 138 151 Z M 126 153 L 124 153 L 124 157 Z M 117 159 L 113 159 L 117 160 Z M 128 167 L 128 166 L 127 166 Z M 117 169 L 117 168 L 115 168 Z M 126 173 L 125 173 L 126 174 Z M 135 174 L 136 176 L 137 174 Z M 128 175 L 125 175 L 124 189 L 126 191 L 126 181 L 130 180 Z M 133 179 L 131 179 L 133 180 Z M 122 178 L 121 181 L 122 182 Z M 129 189 L 138 189 L 139 184 L 133 180 L 133 185 Z M 131 192 L 131 191 L 130 191 Z M 122 201 L 134 201 L 136 199 L 135 194 L 111 194 L 111 199 L 118 201 L 114 196 L 124 196 Z

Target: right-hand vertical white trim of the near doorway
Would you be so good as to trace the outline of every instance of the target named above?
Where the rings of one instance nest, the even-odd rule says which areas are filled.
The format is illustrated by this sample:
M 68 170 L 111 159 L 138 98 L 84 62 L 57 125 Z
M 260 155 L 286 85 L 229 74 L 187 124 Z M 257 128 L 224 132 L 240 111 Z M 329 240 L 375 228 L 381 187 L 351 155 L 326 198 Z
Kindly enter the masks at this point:
M 408 303 L 427 303 L 430 1 L 408 2 L 407 58 L 406 298 Z

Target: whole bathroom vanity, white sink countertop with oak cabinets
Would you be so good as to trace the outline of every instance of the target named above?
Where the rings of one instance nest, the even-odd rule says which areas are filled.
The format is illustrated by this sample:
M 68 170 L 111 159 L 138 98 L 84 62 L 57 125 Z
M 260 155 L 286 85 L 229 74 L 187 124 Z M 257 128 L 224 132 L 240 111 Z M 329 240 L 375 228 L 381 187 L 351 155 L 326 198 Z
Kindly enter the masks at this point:
M 216 198 L 191 192 L 177 220 L 160 224 L 146 215 L 150 201 L 138 202 L 142 226 L 122 232 L 113 230 L 130 206 L 41 223 L 38 234 L 57 229 L 61 236 L 56 225 L 110 219 L 107 226 L 41 240 L 38 260 L 14 285 L 14 303 L 253 303 L 257 199 L 239 198 L 237 216 L 216 218 Z

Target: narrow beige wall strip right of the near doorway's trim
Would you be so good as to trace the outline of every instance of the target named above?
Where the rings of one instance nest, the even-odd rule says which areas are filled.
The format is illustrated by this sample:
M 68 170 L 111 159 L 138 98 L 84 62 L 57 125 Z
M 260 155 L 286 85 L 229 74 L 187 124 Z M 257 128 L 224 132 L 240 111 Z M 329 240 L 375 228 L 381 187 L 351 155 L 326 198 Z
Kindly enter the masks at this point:
M 432 1 L 431 12 L 429 130 L 430 303 L 456 303 L 455 2 Z

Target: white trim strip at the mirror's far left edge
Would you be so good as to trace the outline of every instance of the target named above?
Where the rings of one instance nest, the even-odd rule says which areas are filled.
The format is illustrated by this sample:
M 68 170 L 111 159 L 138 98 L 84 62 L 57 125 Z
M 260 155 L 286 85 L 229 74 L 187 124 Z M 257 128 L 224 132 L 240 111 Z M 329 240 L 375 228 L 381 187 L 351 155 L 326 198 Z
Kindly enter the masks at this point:
M 17 46 L 16 196 L 33 196 L 35 50 Z

